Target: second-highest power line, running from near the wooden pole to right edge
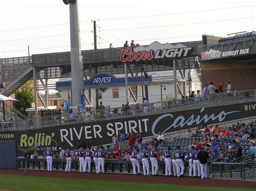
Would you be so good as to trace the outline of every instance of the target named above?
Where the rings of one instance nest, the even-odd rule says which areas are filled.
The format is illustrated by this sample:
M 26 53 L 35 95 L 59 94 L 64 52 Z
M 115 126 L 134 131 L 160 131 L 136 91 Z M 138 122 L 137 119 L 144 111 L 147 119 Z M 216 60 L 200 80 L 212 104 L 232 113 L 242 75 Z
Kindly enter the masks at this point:
M 159 25 L 159 26 L 144 26 L 144 27 L 137 27 L 137 28 L 106 29 L 105 31 L 150 29 L 150 28 L 161 28 L 161 27 L 167 27 L 167 26 L 181 26 L 181 25 L 193 25 L 193 24 L 204 24 L 204 23 L 217 23 L 217 22 L 226 22 L 226 21 L 237 21 L 237 20 L 250 19 L 250 18 L 255 18 L 255 17 L 234 18 L 234 19 L 225 19 L 225 20 L 219 20 L 219 21 L 207 21 L 207 22 L 199 22 L 199 23 L 184 23 L 184 24 Z

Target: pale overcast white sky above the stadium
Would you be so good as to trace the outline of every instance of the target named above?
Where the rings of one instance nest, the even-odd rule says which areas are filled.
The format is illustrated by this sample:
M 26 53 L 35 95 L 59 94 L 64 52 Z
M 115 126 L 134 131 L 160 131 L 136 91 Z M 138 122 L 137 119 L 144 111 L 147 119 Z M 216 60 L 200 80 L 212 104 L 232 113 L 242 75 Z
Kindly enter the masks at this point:
M 201 40 L 201 35 L 256 30 L 256 1 L 79 0 L 82 50 L 154 41 Z M 70 51 L 69 5 L 62 0 L 0 0 L 0 58 Z

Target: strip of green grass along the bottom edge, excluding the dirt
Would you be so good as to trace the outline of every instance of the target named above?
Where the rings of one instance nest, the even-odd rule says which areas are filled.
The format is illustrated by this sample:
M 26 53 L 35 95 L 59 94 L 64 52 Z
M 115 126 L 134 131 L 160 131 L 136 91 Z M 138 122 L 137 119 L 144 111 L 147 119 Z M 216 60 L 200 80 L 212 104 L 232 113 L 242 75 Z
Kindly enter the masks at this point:
M 96 180 L 74 180 L 39 178 L 32 176 L 0 175 L 0 188 L 11 190 L 254 190 L 245 188 L 196 187 L 165 184 L 110 182 Z

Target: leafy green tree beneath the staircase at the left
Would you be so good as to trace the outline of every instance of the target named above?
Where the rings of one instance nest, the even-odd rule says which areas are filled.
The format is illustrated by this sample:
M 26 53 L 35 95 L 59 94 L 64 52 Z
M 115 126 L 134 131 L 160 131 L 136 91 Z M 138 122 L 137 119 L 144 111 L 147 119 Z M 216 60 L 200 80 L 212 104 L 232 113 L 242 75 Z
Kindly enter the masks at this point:
M 33 88 L 30 87 L 30 82 L 28 81 L 24 84 L 20 90 L 15 92 L 15 99 L 19 101 L 14 102 L 14 107 L 21 113 L 27 115 L 26 108 L 32 107 L 33 103 Z

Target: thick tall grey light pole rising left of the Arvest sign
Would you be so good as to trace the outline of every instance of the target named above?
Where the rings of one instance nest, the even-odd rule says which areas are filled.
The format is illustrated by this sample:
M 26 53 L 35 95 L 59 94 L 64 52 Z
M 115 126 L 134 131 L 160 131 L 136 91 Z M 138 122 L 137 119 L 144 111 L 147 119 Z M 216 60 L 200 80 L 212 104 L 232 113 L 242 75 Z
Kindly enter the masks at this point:
M 81 88 L 83 87 L 83 58 L 80 46 L 80 27 L 78 0 L 63 0 L 63 3 L 69 4 L 70 15 L 70 49 L 71 49 L 71 99 L 72 105 L 77 106 L 81 103 Z M 73 107 L 73 112 L 78 112 L 78 107 Z

